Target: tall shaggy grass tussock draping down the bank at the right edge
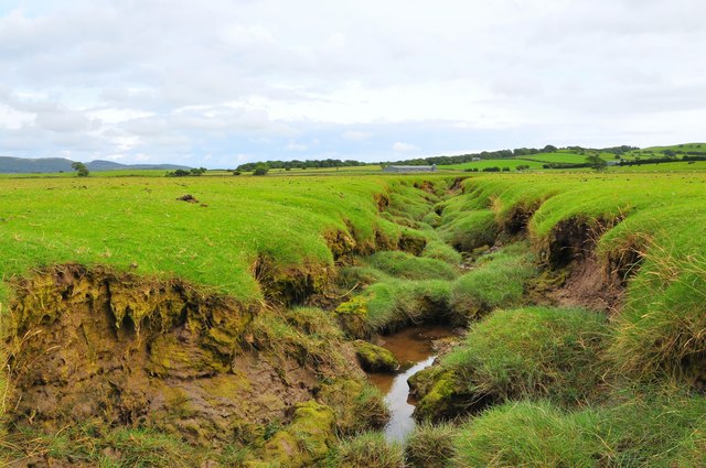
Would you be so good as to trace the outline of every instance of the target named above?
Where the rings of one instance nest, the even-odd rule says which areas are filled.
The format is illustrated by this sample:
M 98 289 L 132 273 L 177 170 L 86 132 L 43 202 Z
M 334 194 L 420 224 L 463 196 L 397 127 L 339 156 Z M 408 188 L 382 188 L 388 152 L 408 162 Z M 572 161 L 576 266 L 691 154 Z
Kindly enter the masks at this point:
M 634 378 L 706 381 L 706 258 L 653 246 L 630 285 L 610 356 Z

